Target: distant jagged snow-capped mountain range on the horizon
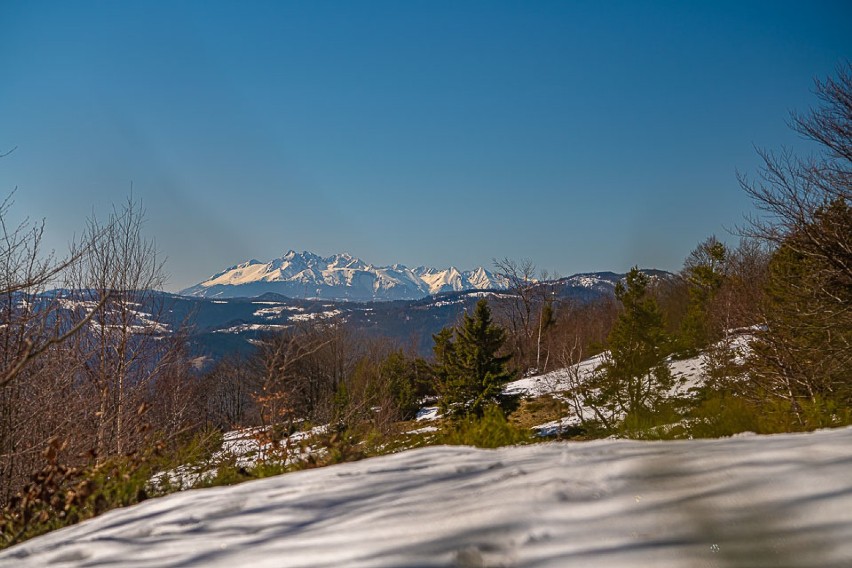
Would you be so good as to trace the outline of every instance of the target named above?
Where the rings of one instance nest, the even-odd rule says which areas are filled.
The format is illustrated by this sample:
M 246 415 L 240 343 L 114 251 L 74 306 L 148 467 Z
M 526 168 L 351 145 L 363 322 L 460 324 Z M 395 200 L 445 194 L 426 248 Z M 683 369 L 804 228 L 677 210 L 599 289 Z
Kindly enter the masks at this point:
M 255 297 L 269 292 L 326 300 L 416 300 L 443 292 L 505 290 L 505 278 L 482 267 L 460 271 L 401 264 L 373 266 L 342 253 L 321 257 L 289 251 L 268 262 L 249 260 L 180 292 L 204 298 Z

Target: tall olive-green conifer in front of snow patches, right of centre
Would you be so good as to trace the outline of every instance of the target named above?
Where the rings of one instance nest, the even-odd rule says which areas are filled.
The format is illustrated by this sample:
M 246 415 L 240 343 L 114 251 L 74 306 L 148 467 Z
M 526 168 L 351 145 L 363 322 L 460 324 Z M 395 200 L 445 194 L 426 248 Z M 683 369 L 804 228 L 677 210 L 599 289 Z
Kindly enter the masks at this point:
M 616 286 L 623 309 L 609 334 L 610 358 L 585 392 L 585 403 L 607 428 L 625 415 L 653 413 L 674 385 L 665 361 L 670 341 L 648 284 L 633 267 Z

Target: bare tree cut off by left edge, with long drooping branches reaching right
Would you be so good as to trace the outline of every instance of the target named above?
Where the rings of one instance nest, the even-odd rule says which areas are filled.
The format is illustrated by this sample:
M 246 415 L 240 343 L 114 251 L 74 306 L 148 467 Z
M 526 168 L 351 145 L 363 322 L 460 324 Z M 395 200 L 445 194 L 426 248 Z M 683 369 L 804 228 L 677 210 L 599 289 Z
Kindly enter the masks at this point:
M 12 224 L 11 207 L 11 196 L 0 204 L 0 503 L 40 467 L 46 441 L 75 431 L 83 419 L 68 341 L 94 314 L 83 311 L 70 324 L 64 298 L 48 290 L 89 243 L 58 258 L 43 249 L 44 221 Z

